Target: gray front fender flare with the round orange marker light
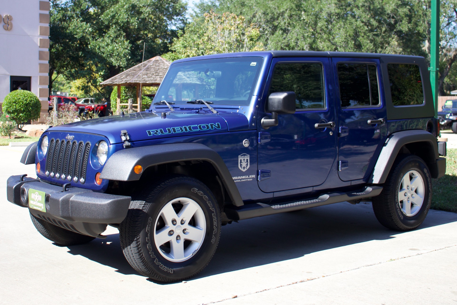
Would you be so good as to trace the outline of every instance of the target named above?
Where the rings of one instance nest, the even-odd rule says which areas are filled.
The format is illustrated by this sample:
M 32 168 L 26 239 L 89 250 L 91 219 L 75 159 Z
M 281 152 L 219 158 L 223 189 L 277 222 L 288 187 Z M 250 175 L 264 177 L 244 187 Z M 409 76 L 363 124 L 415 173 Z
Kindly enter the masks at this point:
M 135 165 L 149 166 L 178 161 L 207 161 L 213 165 L 235 206 L 242 206 L 243 199 L 221 156 L 206 145 L 199 143 L 175 143 L 142 146 L 119 150 L 106 161 L 100 178 L 117 181 L 139 180 L 141 173 L 133 171 Z M 144 172 L 143 170 L 143 172 Z

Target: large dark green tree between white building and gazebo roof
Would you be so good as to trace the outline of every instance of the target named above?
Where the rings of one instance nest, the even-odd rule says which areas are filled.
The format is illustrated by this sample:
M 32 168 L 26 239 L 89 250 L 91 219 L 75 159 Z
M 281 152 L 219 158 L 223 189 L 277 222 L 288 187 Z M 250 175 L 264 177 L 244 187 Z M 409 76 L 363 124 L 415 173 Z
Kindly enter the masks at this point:
M 102 80 L 168 51 L 184 26 L 182 0 L 51 0 L 49 75 L 83 79 L 83 92 L 109 100 Z

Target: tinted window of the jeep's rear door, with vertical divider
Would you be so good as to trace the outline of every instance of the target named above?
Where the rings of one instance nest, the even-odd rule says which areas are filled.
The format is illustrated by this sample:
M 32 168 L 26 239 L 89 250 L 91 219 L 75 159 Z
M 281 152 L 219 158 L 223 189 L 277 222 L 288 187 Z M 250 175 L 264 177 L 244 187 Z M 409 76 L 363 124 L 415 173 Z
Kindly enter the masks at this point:
M 341 107 L 378 106 L 379 86 L 375 64 L 339 63 Z

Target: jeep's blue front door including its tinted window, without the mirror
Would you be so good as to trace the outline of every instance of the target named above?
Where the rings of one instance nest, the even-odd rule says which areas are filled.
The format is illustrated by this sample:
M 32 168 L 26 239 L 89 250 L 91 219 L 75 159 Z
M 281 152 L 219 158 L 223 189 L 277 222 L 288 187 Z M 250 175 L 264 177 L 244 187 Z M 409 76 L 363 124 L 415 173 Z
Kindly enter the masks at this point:
M 261 128 L 258 116 L 259 187 L 276 192 L 322 184 L 336 159 L 335 128 L 316 123 L 335 122 L 334 85 L 329 58 L 275 58 L 263 96 L 293 91 L 296 112 L 279 114 L 278 126 Z

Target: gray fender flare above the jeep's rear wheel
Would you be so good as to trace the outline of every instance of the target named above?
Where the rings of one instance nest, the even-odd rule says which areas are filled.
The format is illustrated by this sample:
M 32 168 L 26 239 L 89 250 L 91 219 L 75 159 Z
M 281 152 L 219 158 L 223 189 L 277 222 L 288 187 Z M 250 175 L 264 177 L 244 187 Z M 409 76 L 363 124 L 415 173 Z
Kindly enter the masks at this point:
M 440 170 L 434 168 L 434 165 L 437 164 L 436 161 L 440 159 L 440 155 L 438 154 L 438 144 L 436 144 L 435 136 L 425 130 L 414 129 L 399 131 L 388 136 L 386 142 L 384 143 L 383 149 L 379 154 L 376 165 L 374 166 L 373 174 L 368 182 L 374 184 L 384 183 L 390 172 L 390 169 L 392 168 L 395 158 L 399 154 L 400 149 L 405 144 L 414 142 L 429 143 L 429 147 L 424 147 L 424 149 L 432 148 L 432 155 L 434 155 L 435 160 L 433 163 L 427 163 L 427 166 L 429 166 L 433 178 L 440 176 L 439 174 L 436 174 L 436 172 L 440 172 Z

